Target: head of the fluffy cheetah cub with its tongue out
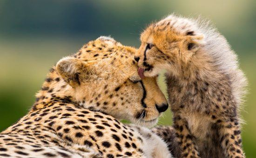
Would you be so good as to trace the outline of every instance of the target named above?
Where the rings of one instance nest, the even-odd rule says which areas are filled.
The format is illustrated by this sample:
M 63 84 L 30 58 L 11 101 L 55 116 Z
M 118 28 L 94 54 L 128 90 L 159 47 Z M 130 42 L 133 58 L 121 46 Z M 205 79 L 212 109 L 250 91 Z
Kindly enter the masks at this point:
M 139 71 L 141 76 L 156 76 L 162 69 L 179 73 L 203 44 L 204 36 L 194 22 L 170 15 L 141 33 L 135 60 L 143 71 Z

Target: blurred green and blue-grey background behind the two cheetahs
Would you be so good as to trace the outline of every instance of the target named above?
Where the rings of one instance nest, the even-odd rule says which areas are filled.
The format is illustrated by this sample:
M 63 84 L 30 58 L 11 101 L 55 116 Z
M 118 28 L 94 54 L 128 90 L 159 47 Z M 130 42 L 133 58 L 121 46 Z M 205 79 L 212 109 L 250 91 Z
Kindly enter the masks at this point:
M 255 0 L 0 0 L 0 131 L 27 113 L 61 57 L 101 35 L 138 47 L 143 28 L 169 13 L 210 19 L 239 55 L 249 79 L 243 146 L 255 158 Z M 162 76 L 159 83 L 165 91 Z M 160 124 L 171 122 L 168 110 Z

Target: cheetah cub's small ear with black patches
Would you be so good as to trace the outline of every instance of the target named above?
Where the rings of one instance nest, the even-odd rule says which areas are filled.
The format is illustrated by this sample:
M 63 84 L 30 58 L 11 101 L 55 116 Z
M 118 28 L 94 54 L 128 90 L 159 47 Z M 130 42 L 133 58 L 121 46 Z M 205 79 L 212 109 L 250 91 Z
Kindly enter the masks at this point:
M 187 49 L 194 54 L 199 48 L 205 44 L 203 34 L 195 34 L 193 31 L 186 33 L 187 36 Z

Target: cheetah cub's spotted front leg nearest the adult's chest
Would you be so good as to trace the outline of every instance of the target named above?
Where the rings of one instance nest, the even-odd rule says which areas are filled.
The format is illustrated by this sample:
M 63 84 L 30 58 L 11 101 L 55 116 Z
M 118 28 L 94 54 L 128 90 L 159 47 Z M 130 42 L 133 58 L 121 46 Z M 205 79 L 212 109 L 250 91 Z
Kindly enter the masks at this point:
M 188 129 L 188 122 L 179 114 L 174 114 L 174 128 L 181 147 L 182 158 L 200 158 L 197 147 L 193 142 L 193 135 Z

